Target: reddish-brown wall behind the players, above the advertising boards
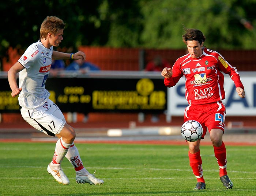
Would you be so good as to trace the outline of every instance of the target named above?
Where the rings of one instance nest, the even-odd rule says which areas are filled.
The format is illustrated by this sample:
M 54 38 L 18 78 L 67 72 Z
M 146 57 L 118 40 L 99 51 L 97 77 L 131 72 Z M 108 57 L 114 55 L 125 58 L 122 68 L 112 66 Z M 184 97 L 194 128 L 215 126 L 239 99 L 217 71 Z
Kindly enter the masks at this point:
M 145 48 L 110 48 L 110 47 L 89 47 L 78 48 L 86 53 L 87 61 L 96 64 L 101 70 L 117 71 L 139 71 L 156 55 L 162 56 L 171 65 L 186 50 L 171 49 L 145 49 Z M 256 50 L 219 50 L 222 56 L 238 71 L 256 71 Z M 16 48 L 9 48 L 9 57 L 3 58 L 3 71 L 8 71 L 17 62 L 22 54 Z

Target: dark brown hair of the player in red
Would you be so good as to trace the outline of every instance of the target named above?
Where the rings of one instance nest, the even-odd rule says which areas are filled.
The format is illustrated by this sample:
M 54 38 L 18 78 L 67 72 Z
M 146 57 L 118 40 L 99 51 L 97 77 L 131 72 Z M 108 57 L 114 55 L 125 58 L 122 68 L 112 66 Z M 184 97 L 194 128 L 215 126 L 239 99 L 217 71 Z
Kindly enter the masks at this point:
M 196 40 L 200 44 L 202 44 L 205 40 L 206 37 L 202 33 L 202 31 L 198 29 L 193 29 L 193 28 L 185 28 L 186 33 L 182 35 L 182 41 L 187 44 L 188 40 Z

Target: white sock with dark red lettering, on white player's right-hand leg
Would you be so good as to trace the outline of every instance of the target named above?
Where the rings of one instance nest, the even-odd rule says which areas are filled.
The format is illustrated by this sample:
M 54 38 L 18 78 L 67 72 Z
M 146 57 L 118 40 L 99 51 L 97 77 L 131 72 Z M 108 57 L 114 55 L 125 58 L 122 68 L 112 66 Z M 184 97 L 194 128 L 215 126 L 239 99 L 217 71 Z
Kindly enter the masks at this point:
M 83 175 L 86 176 L 89 174 L 89 172 L 84 168 L 83 162 L 81 160 L 81 157 L 79 155 L 78 149 L 74 145 L 74 143 L 71 144 L 70 148 L 68 149 L 67 154 L 65 157 L 71 162 L 71 164 L 74 166 L 76 170 L 77 175 Z

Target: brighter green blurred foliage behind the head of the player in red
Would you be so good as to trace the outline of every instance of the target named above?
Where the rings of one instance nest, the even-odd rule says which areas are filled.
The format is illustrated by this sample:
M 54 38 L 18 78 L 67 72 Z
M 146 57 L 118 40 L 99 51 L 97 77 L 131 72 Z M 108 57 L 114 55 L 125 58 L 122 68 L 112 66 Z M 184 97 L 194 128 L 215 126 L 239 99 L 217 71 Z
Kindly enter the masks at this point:
M 255 30 L 241 23 L 255 21 L 256 1 L 238 0 L 154 0 L 141 1 L 143 46 L 182 48 L 183 25 L 197 28 L 206 35 L 206 45 L 223 49 L 255 49 Z M 246 8 L 246 9 L 245 9 Z

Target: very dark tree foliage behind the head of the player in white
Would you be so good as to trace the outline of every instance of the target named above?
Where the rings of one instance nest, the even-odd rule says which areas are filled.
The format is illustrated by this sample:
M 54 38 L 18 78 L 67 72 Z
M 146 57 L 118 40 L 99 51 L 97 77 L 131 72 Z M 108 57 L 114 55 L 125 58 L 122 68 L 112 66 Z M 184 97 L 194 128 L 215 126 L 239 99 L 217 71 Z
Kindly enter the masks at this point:
M 98 15 L 99 4 L 97 0 L 3 1 L 0 6 L 0 12 L 4 13 L 4 31 L 0 33 L 1 46 L 20 45 L 26 48 L 37 42 L 42 21 L 46 16 L 53 15 L 66 23 L 61 44 L 63 47 L 90 45 L 94 40 L 97 40 L 97 44 L 104 45 L 108 37 L 107 31 L 99 31 L 93 20 Z

